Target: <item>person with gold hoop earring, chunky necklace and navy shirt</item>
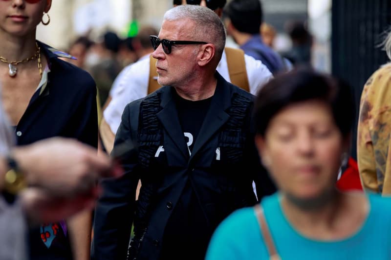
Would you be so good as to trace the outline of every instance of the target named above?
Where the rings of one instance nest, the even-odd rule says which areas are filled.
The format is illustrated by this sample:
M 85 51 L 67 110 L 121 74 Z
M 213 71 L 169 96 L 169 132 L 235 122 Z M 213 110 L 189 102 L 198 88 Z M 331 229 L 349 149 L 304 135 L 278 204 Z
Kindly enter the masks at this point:
M 51 4 L 51 0 L 0 1 L 2 104 L 17 145 L 62 136 L 96 147 L 94 80 L 59 59 L 72 56 L 36 40 L 37 25 L 50 22 Z M 43 223 L 30 232 L 31 258 L 87 260 L 90 228 L 90 212 Z

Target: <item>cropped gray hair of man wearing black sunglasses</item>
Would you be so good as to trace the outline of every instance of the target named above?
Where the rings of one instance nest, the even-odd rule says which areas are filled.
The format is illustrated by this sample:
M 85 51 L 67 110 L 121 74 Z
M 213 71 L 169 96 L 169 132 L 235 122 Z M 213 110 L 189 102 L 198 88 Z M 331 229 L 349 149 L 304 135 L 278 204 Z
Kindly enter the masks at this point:
M 194 21 L 194 39 L 212 43 L 216 47 L 215 57 L 219 61 L 224 51 L 226 31 L 224 24 L 215 12 L 199 5 L 178 5 L 164 14 L 164 20 L 189 19 Z M 178 39 L 183 40 L 183 39 Z

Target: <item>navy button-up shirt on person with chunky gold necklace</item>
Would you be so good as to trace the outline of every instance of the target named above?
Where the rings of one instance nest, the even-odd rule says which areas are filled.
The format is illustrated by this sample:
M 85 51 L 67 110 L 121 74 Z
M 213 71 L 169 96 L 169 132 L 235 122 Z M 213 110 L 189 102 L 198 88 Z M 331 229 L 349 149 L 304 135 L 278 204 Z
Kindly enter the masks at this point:
M 34 93 L 16 126 L 17 145 L 61 136 L 97 147 L 98 117 L 94 80 L 82 69 L 58 59 L 67 57 L 67 54 L 38 43 L 48 60 L 50 72 L 43 73 L 43 79 L 47 76 L 46 82 Z M 66 230 L 61 227 L 49 247 L 41 239 L 39 227 L 30 230 L 29 240 L 32 260 L 72 259 Z

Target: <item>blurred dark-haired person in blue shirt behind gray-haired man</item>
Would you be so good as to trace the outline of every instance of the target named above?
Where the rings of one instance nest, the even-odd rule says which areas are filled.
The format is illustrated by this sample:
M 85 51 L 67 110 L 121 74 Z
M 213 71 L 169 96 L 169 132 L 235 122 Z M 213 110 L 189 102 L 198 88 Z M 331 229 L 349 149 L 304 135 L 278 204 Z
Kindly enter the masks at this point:
M 245 54 L 261 60 L 273 74 L 284 70 L 282 57 L 264 44 L 260 35 L 263 21 L 260 0 L 232 0 L 224 8 L 224 14 L 227 34 Z

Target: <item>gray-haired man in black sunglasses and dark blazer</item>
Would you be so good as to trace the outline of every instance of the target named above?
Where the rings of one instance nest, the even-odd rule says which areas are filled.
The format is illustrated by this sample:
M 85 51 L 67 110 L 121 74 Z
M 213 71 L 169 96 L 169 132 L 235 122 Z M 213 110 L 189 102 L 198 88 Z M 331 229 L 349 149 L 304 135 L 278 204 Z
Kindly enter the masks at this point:
M 134 145 L 126 174 L 105 180 L 95 211 L 93 259 L 203 259 L 235 209 L 273 193 L 254 146 L 253 96 L 216 71 L 225 29 L 210 9 L 169 10 L 151 36 L 164 87 L 128 104 L 113 153 Z M 138 180 L 142 187 L 138 201 Z

